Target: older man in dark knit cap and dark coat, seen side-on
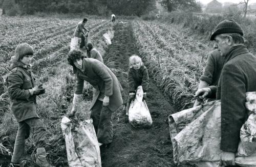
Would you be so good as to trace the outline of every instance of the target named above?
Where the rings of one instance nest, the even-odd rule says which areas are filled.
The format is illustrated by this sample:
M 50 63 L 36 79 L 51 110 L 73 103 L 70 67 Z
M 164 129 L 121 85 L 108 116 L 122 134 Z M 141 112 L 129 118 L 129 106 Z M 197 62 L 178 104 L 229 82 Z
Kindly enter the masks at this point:
M 234 166 L 240 129 L 247 119 L 246 92 L 256 91 L 256 58 L 244 45 L 243 30 L 234 20 L 220 22 L 210 40 L 224 57 L 218 86 L 199 89 L 196 97 L 221 100 L 221 165 Z

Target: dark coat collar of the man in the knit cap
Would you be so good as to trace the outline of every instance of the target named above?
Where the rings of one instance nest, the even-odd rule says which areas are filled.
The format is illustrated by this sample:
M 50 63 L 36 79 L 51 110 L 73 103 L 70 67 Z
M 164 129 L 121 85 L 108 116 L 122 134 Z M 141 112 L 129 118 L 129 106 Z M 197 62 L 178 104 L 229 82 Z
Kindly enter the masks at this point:
M 229 60 L 237 57 L 237 55 L 249 53 L 249 50 L 246 48 L 245 45 L 237 45 L 231 47 L 230 51 L 227 53 L 227 55 L 224 58 L 223 66 L 226 64 Z

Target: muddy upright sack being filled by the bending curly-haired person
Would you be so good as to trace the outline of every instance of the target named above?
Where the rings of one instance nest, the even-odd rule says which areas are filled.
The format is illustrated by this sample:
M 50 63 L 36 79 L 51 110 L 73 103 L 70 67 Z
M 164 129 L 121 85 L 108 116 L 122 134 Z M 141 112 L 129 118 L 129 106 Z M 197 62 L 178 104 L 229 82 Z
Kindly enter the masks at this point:
M 79 122 L 61 120 L 70 167 L 101 167 L 100 149 L 92 119 Z

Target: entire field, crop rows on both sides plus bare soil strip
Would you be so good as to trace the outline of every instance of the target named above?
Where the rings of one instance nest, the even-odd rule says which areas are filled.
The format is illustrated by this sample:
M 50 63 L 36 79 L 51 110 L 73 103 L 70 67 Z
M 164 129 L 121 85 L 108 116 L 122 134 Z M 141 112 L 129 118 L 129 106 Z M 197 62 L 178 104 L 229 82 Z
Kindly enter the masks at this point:
M 37 97 L 37 111 L 47 130 L 47 157 L 53 164 L 66 167 L 68 162 L 60 119 L 71 108 L 75 76 L 66 59 L 73 31 L 80 20 L 0 17 L 0 21 L 3 22 L 0 25 L 0 164 L 10 162 L 17 130 L 17 123 L 9 109 L 4 76 L 8 73 L 7 67 L 17 44 L 27 42 L 35 51 L 32 71 L 36 82 L 42 83 L 47 90 Z M 90 30 L 94 46 L 101 53 L 106 52 L 104 63 L 113 70 L 124 88 L 124 104 L 127 100 L 128 59 L 132 54 L 143 58 L 152 78 L 147 104 L 154 123 L 150 129 L 133 129 L 129 123 L 121 121 L 124 119 L 122 110 L 115 112 L 114 144 L 101 150 L 102 166 L 176 166 L 166 124 L 167 116 L 175 110 L 167 100 L 171 100 L 176 109 L 193 104 L 199 77 L 206 63 L 202 57 L 211 48 L 207 42 L 196 40 L 195 35 L 179 26 L 154 21 L 123 21 L 126 22 L 113 24 L 105 19 L 89 19 L 86 27 Z M 102 35 L 112 30 L 115 30 L 115 36 L 108 47 L 102 41 Z M 83 99 L 77 115 L 79 120 L 88 118 L 86 111 L 92 99 L 90 85 L 86 84 Z M 26 152 L 23 166 L 33 166 L 30 157 L 35 153 L 32 136 L 26 142 Z

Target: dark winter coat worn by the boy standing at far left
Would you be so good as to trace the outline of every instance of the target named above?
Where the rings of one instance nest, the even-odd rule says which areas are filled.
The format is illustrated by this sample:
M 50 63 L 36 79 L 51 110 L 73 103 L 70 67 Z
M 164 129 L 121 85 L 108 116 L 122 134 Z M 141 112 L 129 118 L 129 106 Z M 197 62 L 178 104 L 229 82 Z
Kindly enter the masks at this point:
M 17 61 L 11 65 L 10 69 L 11 72 L 7 77 L 7 88 L 11 110 L 17 122 L 39 118 L 36 112 L 35 95 L 31 95 L 29 92 L 29 89 L 35 86 L 30 67 Z

